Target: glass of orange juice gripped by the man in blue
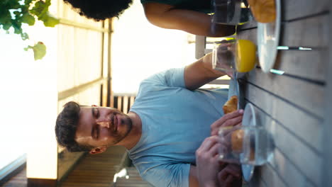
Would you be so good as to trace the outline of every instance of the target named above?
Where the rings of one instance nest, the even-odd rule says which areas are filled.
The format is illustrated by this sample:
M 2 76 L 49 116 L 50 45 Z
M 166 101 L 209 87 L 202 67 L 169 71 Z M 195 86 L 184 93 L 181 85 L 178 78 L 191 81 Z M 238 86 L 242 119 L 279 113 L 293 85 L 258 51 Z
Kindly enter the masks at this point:
M 223 40 L 212 51 L 212 67 L 230 77 L 250 72 L 256 63 L 256 46 L 250 40 Z

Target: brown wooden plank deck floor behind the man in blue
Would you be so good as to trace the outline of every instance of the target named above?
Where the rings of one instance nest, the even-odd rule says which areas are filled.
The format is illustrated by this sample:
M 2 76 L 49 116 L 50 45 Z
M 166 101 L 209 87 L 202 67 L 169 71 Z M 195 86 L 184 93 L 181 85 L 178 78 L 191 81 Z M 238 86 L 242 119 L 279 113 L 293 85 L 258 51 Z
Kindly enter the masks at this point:
M 123 147 L 111 147 L 103 154 L 87 154 L 60 184 L 61 187 L 112 187 L 113 178 L 121 162 Z M 134 167 L 128 168 L 129 179 L 118 179 L 116 187 L 151 187 L 142 181 Z M 13 176 L 4 187 L 26 187 L 26 168 Z

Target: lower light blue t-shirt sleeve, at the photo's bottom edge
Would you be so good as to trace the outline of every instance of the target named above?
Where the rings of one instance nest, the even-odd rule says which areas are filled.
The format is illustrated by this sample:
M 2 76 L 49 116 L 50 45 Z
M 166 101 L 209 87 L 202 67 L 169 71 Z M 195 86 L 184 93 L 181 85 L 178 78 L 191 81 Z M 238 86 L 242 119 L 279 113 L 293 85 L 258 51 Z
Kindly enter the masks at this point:
M 161 164 L 141 174 L 156 187 L 188 187 L 190 164 Z

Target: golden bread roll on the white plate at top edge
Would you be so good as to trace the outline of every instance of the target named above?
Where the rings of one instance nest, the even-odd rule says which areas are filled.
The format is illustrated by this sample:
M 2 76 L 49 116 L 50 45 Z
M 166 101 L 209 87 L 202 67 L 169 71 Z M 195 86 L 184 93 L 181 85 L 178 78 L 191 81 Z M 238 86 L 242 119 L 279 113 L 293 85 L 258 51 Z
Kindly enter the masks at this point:
M 275 21 L 275 0 L 248 0 L 248 4 L 256 21 L 260 23 Z

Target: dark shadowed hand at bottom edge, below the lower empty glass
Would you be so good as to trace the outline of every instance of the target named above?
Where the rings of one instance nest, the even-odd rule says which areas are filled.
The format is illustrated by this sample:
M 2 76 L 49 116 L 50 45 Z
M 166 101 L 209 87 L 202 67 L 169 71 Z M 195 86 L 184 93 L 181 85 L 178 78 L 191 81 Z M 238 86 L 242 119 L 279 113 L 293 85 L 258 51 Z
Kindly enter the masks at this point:
M 222 187 L 240 187 L 242 186 L 242 173 L 240 165 L 227 164 L 227 166 L 218 172 L 218 183 Z

